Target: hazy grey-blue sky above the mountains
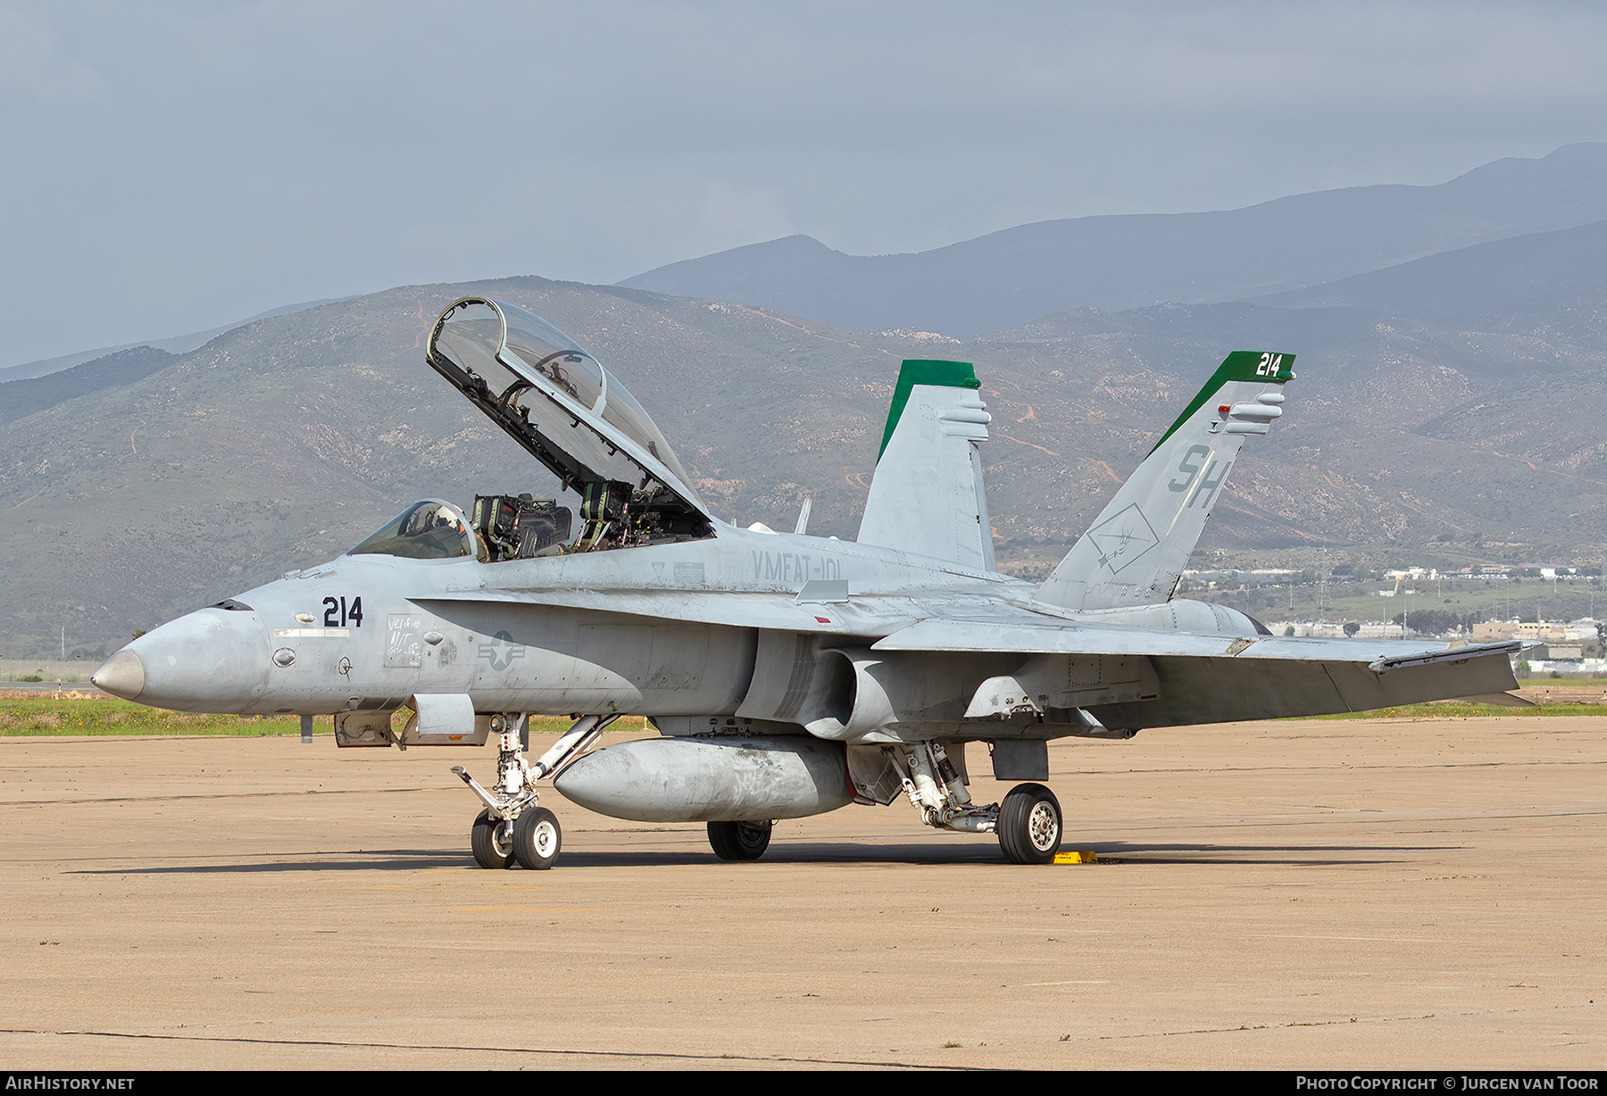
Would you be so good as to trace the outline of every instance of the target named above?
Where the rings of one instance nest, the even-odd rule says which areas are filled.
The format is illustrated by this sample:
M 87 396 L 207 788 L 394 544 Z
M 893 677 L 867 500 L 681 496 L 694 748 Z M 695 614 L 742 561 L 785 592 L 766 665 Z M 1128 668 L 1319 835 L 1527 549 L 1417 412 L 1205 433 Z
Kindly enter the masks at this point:
M 0 0 L 0 366 L 1607 140 L 1597 3 Z

